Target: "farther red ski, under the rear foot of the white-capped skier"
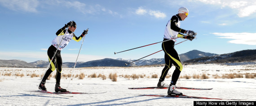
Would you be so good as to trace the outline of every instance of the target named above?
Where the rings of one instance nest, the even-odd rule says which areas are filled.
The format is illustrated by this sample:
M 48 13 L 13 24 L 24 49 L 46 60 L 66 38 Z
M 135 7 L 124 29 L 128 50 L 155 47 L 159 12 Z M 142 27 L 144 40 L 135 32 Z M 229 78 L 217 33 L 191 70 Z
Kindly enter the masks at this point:
M 140 87 L 140 88 L 128 88 L 128 89 L 168 89 L 169 87 Z M 185 90 L 212 90 L 212 88 L 188 88 L 188 87 L 176 87 L 177 89 L 185 89 Z

